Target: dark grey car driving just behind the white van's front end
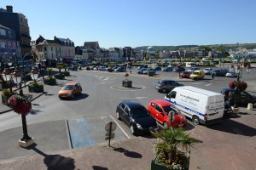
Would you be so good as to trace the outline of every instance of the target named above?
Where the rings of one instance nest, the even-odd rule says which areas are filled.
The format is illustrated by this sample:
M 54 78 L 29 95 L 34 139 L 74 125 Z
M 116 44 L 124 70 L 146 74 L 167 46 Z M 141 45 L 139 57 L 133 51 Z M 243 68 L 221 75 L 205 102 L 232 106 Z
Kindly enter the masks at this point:
M 183 84 L 173 80 L 160 80 L 156 83 L 155 88 L 158 90 L 158 92 L 166 94 L 167 92 L 172 91 L 173 88 L 180 86 L 183 86 Z

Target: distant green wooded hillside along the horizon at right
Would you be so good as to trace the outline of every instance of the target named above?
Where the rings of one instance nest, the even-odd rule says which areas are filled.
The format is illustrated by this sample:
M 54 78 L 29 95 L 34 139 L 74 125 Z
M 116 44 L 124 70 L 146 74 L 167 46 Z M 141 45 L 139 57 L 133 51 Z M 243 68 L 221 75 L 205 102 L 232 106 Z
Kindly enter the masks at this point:
M 195 50 L 198 48 L 212 48 L 212 49 L 219 49 L 224 48 L 225 51 L 236 51 L 237 48 L 247 48 L 247 49 L 254 49 L 256 48 L 256 43 L 236 43 L 236 44 L 214 44 L 214 45 L 180 45 L 180 46 L 142 46 L 134 48 L 136 51 L 147 51 L 148 47 L 151 47 L 150 51 L 177 51 L 177 50 Z

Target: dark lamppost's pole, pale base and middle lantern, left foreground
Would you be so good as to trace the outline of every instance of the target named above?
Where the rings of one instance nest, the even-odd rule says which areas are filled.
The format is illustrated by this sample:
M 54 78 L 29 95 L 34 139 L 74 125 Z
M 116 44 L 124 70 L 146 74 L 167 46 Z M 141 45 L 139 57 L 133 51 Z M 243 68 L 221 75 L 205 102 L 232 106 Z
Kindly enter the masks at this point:
M 20 84 L 20 96 L 23 96 L 20 72 L 15 70 L 15 72 L 12 75 L 12 79 L 16 84 Z M 26 114 L 21 114 L 21 121 L 22 121 L 23 137 L 22 139 L 19 140 L 19 145 L 22 147 L 28 147 L 29 145 L 33 144 L 34 141 L 30 136 L 28 136 L 28 133 L 27 133 Z

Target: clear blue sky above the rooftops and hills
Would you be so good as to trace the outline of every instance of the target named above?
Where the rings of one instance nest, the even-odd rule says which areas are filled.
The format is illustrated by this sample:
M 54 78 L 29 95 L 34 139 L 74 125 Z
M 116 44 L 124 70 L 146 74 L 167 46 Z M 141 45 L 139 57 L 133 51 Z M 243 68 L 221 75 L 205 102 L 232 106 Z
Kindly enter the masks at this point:
M 253 43 L 256 0 L 1 0 L 26 15 L 32 40 L 101 48 Z

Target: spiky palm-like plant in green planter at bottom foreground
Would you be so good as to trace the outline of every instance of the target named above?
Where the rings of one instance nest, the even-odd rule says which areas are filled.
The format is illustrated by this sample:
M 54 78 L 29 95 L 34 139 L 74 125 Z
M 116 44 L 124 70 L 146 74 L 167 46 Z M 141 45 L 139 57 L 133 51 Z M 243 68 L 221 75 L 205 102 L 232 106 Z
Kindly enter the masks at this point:
M 151 170 L 189 169 L 190 147 L 198 140 L 189 138 L 181 127 L 166 127 L 152 134 L 158 142 L 154 144 L 156 156 L 151 161 Z

